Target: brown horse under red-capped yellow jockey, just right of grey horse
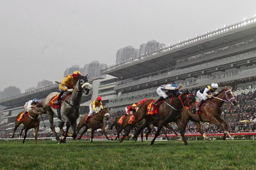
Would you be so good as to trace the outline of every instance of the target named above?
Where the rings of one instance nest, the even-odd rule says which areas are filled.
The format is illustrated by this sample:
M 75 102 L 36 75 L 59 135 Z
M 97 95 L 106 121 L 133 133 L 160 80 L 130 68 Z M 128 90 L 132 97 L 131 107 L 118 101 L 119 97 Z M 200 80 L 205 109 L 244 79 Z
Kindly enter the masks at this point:
M 104 126 L 104 122 L 103 122 L 103 118 L 105 117 L 106 120 L 109 119 L 109 111 L 107 107 L 104 107 L 103 109 L 101 109 L 98 113 L 92 115 L 92 117 L 90 118 L 90 121 L 88 123 L 85 123 L 85 118 L 87 117 L 88 114 L 85 114 L 79 121 L 79 124 L 77 126 L 77 133 L 79 132 L 79 130 L 85 126 L 85 130 L 82 132 L 81 136 L 78 137 L 77 139 L 80 140 L 81 137 L 83 136 L 83 134 L 85 134 L 85 132 L 91 128 L 91 142 L 93 142 L 93 134 L 94 131 L 97 129 L 101 129 L 103 134 L 106 136 L 107 140 L 111 140 L 107 137 L 107 133 L 105 132 L 105 126 Z

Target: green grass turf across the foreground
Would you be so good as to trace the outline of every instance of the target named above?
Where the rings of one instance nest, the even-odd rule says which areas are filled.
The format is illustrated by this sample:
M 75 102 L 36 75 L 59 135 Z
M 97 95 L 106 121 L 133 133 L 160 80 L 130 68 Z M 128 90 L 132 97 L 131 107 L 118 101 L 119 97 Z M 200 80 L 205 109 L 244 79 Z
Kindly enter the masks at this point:
M 256 141 L 0 141 L 0 169 L 254 170 Z

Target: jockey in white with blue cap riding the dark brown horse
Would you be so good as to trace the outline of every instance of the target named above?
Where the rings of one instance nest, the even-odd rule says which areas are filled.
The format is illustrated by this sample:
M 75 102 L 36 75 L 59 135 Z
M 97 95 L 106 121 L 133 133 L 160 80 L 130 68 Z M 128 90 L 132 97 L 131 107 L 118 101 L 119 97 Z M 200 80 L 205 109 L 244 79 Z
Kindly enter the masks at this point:
M 153 103 L 153 105 L 157 105 L 159 101 L 162 101 L 166 99 L 169 95 L 175 93 L 179 94 L 179 89 L 182 88 L 182 85 L 178 86 L 176 84 L 167 84 L 167 85 L 161 85 L 157 88 L 157 94 L 161 96 L 157 101 Z

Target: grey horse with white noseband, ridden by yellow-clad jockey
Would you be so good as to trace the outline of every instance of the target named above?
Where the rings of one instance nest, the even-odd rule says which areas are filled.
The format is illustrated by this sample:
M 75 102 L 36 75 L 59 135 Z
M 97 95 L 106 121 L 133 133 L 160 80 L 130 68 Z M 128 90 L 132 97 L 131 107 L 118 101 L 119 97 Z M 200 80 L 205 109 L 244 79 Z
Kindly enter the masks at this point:
M 59 136 L 55 131 L 55 126 L 53 122 L 53 116 L 56 115 L 58 117 L 57 109 L 54 109 L 49 105 L 47 105 L 47 103 L 49 103 L 51 98 L 58 93 L 57 92 L 50 93 L 45 99 L 45 104 L 47 105 L 47 115 L 51 123 L 51 129 L 58 143 L 66 142 L 66 137 L 68 136 L 68 129 L 70 128 L 70 126 L 72 127 L 72 130 L 73 130 L 72 138 L 73 139 L 76 138 L 76 135 L 77 135 L 76 120 L 78 119 L 79 113 L 80 113 L 81 97 L 83 93 L 88 95 L 91 90 L 91 85 L 88 83 L 87 77 L 88 77 L 88 74 L 86 76 L 79 75 L 76 85 L 74 87 L 74 90 L 72 91 L 70 97 L 68 99 L 65 99 L 64 102 L 61 103 L 61 106 L 60 106 L 61 118 L 59 117 L 59 119 L 62 121 L 62 125 L 66 123 L 66 132 L 64 133 L 64 136 L 61 139 L 59 138 Z M 61 130 L 62 128 L 60 127 Z M 62 132 L 64 131 L 62 130 Z

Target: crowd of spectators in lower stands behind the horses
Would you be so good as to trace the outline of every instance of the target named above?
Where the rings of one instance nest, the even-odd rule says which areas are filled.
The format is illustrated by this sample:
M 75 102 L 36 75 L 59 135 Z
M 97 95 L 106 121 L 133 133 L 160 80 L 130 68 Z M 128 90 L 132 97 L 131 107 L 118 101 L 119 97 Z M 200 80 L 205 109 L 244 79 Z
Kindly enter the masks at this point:
M 253 122 L 256 119 L 256 89 L 245 89 L 245 90 L 238 90 L 234 93 L 235 98 L 238 101 L 238 104 L 233 106 L 230 104 L 225 103 L 222 106 L 222 114 L 221 117 L 225 119 L 228 123 L 228 131 L 229 133 L 243 133 L 243 132 L 256 132 L 256 122 Z M 105 121 L 106 132 L 108 136 L 116 136 L 115 128 L 113 130 L 109 130 L 111 124 L 115 121 L 116 117 L 120 115 L 124 115 L 124 109 L 120 109 L 119 111 L 114 111 L 110 113 L 110 119 Z M 246 120 L 248 122 L 241 122 L 242 120 Z M 212 123 L 201 123 L 202 130 L 206 134 L 216 134 L 216 133 L 223 133 L 222 129 L 219 128 L 217 125 Z M 22 127 L 22 126 L 21 126 Z M 21 130 L 19 127 L 16 131 L 15 137 L 18 137 L 18 133 Z M 58 128 L 58 127 L 57 127 Z M 57 129 L 56 128 L 56 129 Z M 83 127 L 84 128 L 84 127 Z M 81 135 L 83 132 L 83 128 L 78 133 L 78 136 Z M 43 129 L 43 128 L 42 128 Z M 173 126 L 173 130 L 177 129 L 177 125 Z M 13 129 L 8 128 L 8 130 L 3 130 L 0 132 L 0 138 L 9 138 L 12 134 Z M 72 130 L 71 130 L 72 132 Z M 171 130 L 167 130 L 167 134 L 173 134 Z M 199 134 L 196 125 L 194 123 L 189 123 L 186 127 L 186 134 Z M 24 132 L 23 132 L 24 135 Z M 60 137 L 62 134 L 59 132 Z M 153 134 L 152 134 L 153 135 Z M 87 131 L 84 134 L 85 137 L 91 136 L 91 131 Z M 95 131 L 94 136 L 103 136 L 101 130 Z M 47 130 L 39 130 L 38 138 L 47 138 L 47 137 L 54 137 L 54 134 Z M 34 138 L 34 130 L 29 130 L 27 134 L 27 138 Z

